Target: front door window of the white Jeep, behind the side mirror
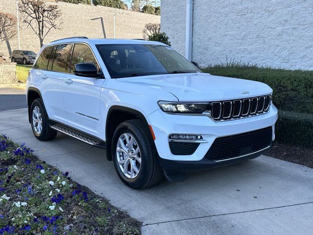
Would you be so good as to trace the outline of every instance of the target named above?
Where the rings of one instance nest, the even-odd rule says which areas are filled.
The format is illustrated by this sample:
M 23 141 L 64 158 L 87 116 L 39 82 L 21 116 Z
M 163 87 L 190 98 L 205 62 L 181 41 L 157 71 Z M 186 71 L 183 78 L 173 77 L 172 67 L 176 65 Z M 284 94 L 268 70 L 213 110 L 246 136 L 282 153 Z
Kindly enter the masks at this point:
M 74 65 L 79 63 L 93 63 L 99 71 L 99 66 L 97 64 L 96 59 L 94 58 L 92 51 L 87 45 L 84 44 L 75 44 L 73 55 L 72 55 L 72 63 L 70 72 L 73 73 Z

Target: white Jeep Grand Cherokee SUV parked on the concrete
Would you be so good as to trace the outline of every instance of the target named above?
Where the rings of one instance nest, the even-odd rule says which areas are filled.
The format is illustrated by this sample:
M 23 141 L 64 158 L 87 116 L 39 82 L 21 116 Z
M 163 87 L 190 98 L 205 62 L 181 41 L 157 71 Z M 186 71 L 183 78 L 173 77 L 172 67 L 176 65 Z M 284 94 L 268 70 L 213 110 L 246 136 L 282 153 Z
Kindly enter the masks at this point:
M 48 141 L 62 132 L 106 148 L 132 188 L 265 153 L 277 120 L 272 89 L 195 64 L 158 42 L 54 41 L 27 78 L 34 135 Z

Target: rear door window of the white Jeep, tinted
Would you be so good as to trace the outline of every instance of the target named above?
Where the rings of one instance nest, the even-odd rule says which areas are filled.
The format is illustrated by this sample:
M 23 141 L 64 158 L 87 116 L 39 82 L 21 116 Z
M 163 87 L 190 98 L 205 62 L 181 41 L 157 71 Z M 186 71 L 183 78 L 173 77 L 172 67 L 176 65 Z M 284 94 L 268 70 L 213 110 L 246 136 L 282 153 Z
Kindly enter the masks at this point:
M 54 53 L 52 71 L 68 72 L 72 45 L 58 45 Z

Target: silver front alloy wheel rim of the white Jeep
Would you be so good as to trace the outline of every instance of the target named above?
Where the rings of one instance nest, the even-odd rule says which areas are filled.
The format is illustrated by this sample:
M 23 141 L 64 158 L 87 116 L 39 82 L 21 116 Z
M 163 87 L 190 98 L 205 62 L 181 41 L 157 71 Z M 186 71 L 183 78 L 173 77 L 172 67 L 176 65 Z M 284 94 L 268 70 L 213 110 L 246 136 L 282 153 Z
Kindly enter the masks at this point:
M 118 138 L 116 158 L 121 171 L 127 178 L 134 179 L 138 176 L 141 166 L 141 155 L 134 136 L 124 133 Z

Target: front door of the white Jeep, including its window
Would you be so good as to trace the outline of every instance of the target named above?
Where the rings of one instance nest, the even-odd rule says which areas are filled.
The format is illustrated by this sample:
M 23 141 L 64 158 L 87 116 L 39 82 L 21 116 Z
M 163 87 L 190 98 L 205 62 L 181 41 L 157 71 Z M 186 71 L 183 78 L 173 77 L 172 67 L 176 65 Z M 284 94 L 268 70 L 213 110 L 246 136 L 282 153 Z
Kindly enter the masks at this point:
M 69 126 L 101 138 L 100 93 L 105 79 L 76 76 L 74 65 L 94 63 L 100 67 L 87 44 L 75 44 L 72 52 L 70 75 L 64 81 L 63 101 Z

